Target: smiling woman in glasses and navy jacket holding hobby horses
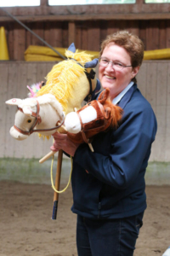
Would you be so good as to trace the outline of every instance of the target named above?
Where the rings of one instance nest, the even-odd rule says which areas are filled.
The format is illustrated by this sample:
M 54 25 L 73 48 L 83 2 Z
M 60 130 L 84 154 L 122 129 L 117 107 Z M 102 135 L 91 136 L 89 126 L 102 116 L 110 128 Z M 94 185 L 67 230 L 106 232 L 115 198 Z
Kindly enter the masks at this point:
M 155 114 L 135 79 L 143 56 L 142 41 L 129 32 L 101 44 L 99 80 L 124 113 L 116 131 L 94 137 L 94 153 L 86 143 L 54 135 L 51 149 L 73 156 L 71 210 L 77 213 L 79 256 L 133 255 L 146 208 L 144 173 L 156 136 Z

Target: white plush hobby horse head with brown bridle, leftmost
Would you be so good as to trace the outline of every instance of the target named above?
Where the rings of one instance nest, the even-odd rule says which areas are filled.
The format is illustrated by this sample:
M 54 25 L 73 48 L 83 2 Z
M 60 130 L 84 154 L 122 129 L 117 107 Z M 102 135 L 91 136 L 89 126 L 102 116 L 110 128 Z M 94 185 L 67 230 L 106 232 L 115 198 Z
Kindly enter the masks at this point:
M 55 99 L 55 96 L 46 94 L 37 98 L 10 99 L 8 105 L 15 105 L 18 110 L 15 114 L 14 126 L 10 129 L 10 135 L 17 140 L 24 140 L 30 134 L 38 130 L 51 129 L 57 126 L 58 121 L 64 119 L 63 108 Z M 39 105 L 39 113 L 37 113 Z M 42 136 L 50 136 L 57 128 L 52 131 L 41 131 Z

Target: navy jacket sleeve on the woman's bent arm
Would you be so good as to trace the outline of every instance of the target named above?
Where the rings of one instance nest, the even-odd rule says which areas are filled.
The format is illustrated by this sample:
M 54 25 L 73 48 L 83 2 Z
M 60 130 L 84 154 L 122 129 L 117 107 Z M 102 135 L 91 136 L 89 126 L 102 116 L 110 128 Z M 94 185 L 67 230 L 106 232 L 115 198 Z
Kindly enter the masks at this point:
M 147 166 L 156 135 L 155 114 L 151 108 L 129 111 L 122 125 L 111 134 L 110 141 L 105 142 L 111 143 L 110 154 L 100 154 L 97 150 L 93 153 L 87 144 L 82 144 L 77 148 L 74 161 L 101 182 L 126 189 Z

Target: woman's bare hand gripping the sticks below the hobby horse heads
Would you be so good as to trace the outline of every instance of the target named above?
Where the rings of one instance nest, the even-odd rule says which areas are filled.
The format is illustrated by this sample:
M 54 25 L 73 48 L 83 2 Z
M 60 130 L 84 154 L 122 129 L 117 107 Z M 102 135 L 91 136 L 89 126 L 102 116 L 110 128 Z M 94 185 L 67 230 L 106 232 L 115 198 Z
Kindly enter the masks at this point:
M 66 134 L 61 133 L 54 133 L 54 144 L 50 147 L 52 151 L 59 151 L 59 149 L 62 149 L 65 151 L 65 153 L 70 154 L 71 156 L 74 156 L 75 152 L 77 151 L 79 143 L 72 143 L 70 138 L 67 137 Z

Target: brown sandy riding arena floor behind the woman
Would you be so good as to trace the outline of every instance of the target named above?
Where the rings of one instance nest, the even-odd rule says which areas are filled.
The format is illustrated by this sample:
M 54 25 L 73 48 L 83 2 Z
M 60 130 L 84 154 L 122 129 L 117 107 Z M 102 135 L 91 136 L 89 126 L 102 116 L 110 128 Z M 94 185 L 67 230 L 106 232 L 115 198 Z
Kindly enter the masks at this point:
M 57 220 L 50 185 L 1 181 L 0 192 L 0 256 L 77 256 L 71 186 L 59 195 Z M 146 194 L 134 256 L 161 256 L 170 245 L 170 186 L 147 186 Z

